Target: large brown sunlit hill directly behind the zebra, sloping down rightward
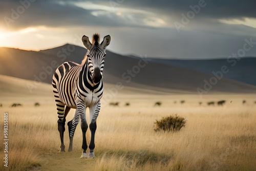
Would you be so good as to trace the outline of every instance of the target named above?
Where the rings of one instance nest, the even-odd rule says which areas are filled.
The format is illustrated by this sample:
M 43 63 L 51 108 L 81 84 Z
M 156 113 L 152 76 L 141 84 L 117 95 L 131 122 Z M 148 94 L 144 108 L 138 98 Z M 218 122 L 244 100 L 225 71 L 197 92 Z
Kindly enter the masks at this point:
M 58 65 L 64 61 L 80 63 L 86 49 L 66 44 L 42 51 L 0 48 L 0 74 L 50 83 Z M 106 52 L 103 80 L 106 83 L 165 92 L 197 93 L 204 90 L 205 82 L 212 78 L 170 63 L 146 58 L 134 58 Z M 207 86 L 206 86 L 207 87 Z M 208 92 L 208 91 L 207 91 Z M 222 78 L 212 84 L 209 92 L 256 92 L 256 87 L 236 80 Z

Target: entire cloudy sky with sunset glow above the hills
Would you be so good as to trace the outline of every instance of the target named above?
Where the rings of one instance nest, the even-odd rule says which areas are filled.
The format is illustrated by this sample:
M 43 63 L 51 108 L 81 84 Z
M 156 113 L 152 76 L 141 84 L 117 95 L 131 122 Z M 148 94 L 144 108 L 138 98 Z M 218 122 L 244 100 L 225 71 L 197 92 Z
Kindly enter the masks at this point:
M 1 0 L 0 47 L 83 46 L 83 35 L 99 33 L 111 35 L 108 49 L 119 54 L 227 58 L 250 41 L 242 55 L 256 56 L 255 7 L 254 0 Z

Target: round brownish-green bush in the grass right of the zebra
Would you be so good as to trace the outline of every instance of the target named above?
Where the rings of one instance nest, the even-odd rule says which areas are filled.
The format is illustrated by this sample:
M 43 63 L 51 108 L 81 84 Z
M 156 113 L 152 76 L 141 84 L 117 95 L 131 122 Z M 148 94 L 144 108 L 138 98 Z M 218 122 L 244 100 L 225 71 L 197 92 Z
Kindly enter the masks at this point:
M 185 127 L 186 120 L 183 117 L 180 116 L 168 116 L 163 117 L 160 121 L 156 120 L 156 129 L 155 131 L 161 131 L 164 132 L 177 132 L 180 131 L 182 127 Z

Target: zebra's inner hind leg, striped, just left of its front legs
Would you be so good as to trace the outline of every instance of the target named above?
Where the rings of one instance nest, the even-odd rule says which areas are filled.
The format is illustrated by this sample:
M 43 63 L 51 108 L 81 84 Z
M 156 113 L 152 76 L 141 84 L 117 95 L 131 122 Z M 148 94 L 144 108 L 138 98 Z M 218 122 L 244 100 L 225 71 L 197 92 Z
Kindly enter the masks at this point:
M 73 149 L 73 138 L 74 138 L 74 133 L 76 130 L 76 126 L 79 122 L 79 114 L 78 114 L 78 110 L 76 109 L 76 113 L 74 118 L 68 122 L 68 126 L 69 126 L 69 152 L 72 151 Z

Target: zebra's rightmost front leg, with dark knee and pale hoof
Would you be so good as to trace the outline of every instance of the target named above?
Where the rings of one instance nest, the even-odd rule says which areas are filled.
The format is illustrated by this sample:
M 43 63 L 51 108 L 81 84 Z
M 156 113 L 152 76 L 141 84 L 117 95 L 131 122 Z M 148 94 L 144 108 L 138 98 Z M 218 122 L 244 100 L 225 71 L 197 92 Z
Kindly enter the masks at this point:
M 92 106 L 92 108 L 90 108 L 90 119 L 91 119 L 91 122 L 90 122 L 90 131 L 91 131 L 91 140 L 90 140 L 90 144 L 89 144 L 89 148 L 90 148 L 90 153 L 89 153 L 89 157 L 95 157 L 94 155 L 94 148 L 95 148 L 95 143 L 94 143 L 94 140 L 95 140 L 95 132 L 96 132 L 96 129 L 97 129 L 97 124 L 96 124 L 96 120 L 97 120 L 97 117 L 99 115 L 99 111 L 100 111 L 100 101 Z

